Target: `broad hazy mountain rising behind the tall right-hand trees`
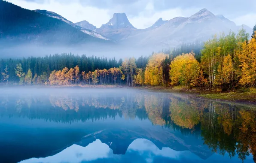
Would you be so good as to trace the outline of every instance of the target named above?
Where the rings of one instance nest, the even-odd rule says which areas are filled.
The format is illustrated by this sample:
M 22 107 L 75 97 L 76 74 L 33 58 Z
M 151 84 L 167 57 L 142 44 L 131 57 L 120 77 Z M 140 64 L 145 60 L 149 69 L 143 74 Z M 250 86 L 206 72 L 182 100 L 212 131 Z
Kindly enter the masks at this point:
M 126 44 L 132 42 L 138 46 L 166 48 L 178 46 L 182 42 L 205 41 L 215 34 L 219 35 L 222 32 L 227 34 L 230 30 L 237 33 L 241 28 L 228 18 L 214 15 L 207 9 L 202 9 L 189 18 L 176 17 L 165 22 L 159 19 L 158 27 L 153 27 L 154 25 L 149 27 L 149 30 L 140 30 L 123 40 Z M 249 33 L 252 31 L 247 26 L 244 28 Z

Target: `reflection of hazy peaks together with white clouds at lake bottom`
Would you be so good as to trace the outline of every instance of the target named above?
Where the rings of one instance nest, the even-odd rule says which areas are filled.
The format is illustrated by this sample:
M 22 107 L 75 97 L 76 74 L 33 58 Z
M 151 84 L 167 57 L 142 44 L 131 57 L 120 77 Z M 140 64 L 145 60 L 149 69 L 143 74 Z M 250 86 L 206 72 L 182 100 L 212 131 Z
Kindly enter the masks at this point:
M 165 160 L 180 159 L 204 160 L 212 155 L 202 141 L 179 138 L 161 127 L 137 130 L 101 130 L 85 136 L 81 141 L 68 145 L 49 155 L 37 156 L 21 161 L 34 162 L 82 162 L 101 159 L 104 162 L 129 162 L 133 158 L 138 162 L 153 159 L 153 156 L 165 157 Z M 187 144 L 189 143 L 189 144 Z M 136 154 L 135 154 L 136 153 Z M 35 156 L 34 156 L 35 157 Z M 45 157 L 45 158 L 43 158 Z M 103 159 L 103 160 L 102 160 Z M 127 160 L 126 160 L 127 162 Z

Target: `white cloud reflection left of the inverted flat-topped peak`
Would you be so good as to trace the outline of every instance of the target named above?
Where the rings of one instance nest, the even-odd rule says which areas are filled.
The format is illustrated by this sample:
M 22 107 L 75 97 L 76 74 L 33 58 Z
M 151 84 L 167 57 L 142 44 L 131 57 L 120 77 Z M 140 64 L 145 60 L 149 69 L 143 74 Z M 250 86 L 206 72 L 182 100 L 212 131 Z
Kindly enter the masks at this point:
M 45 158 L 31 158 L 21 161 L 20 163 L 80 163 L 82 161 L 91 161 L 97 160 L 99 158 L 107 158 L 109 157 L 110 152 L 113 153 L 108 145 L 102 143 L 99 139 L 97 139 L 86 147 L 74 144 L 53 156 Z

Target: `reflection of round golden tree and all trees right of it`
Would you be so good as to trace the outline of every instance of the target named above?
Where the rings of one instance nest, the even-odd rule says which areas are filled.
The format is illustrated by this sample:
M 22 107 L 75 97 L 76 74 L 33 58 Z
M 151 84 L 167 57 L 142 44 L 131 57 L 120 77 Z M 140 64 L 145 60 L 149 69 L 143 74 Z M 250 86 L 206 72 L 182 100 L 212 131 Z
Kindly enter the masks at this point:
M 245 160 L 256 156 L 256 108 L 207 100 L 171 96 L 170 119 L 174 125 L 196 130 L 200 125 L 204 143 L 214 152 L 238 154 Z

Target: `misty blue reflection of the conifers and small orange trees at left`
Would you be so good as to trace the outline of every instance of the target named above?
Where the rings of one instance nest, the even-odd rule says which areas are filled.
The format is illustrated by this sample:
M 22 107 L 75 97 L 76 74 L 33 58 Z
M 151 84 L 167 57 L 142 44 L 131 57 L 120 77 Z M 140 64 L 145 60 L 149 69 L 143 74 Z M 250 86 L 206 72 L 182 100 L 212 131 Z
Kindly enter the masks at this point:
M 135 95 L 135 96 L 134 96 Z M 6 96 L 0 98 L 0 114 L 17 115 L 49 121 L 86 121 L 115 118 L 146 119 L 143 94 L 48 94 L 47 96 Z M 10 100 L 10 101 L 9 101 Z M 5 109 L 3 109 L 5 108 Z M 31 108 L 31 109 L 29 109 Z M 14 110 L 15 109 L 15 110 Z M 75 111 L 75 112 L 74 112 Z

